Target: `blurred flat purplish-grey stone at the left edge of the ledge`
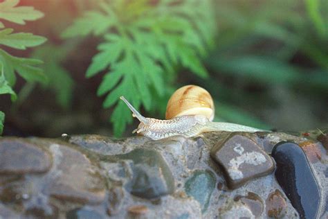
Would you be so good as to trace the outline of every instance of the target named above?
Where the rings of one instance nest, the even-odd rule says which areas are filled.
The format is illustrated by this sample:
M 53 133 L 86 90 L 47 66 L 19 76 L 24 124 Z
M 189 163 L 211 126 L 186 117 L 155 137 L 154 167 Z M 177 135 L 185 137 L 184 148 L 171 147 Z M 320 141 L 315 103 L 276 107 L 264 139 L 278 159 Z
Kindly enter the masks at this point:
M 28 140 L 0 140 L 0 174 L 44 173 L 51 164 L 51 155 Z

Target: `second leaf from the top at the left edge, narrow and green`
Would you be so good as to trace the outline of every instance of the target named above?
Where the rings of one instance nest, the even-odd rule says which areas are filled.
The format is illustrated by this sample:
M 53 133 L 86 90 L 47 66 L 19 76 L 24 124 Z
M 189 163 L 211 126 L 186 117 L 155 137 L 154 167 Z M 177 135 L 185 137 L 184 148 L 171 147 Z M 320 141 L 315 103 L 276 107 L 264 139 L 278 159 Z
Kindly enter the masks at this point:
M 33 35 L 32 33 L 12 33 L 12 31 L 11 28 L 0 31 L 0 44 L 15 49 L 26 49 L 26 47 L 38 46 L 46 42 L 45 37 Z

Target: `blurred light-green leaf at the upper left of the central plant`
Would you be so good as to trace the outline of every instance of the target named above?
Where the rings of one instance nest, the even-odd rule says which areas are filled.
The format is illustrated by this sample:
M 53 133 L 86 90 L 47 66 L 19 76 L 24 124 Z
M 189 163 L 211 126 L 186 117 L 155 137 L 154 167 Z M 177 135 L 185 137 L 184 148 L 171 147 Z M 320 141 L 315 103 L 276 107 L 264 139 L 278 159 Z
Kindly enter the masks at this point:
M 86 36 L 91 33 L 101 35 L 105 33 L 113 24 L 113 17 L 103 15 L 98 11 L 89 11 L 84 13 L 74 21 L 74 23 L 66 28 L 62 33 L 63 38 Z

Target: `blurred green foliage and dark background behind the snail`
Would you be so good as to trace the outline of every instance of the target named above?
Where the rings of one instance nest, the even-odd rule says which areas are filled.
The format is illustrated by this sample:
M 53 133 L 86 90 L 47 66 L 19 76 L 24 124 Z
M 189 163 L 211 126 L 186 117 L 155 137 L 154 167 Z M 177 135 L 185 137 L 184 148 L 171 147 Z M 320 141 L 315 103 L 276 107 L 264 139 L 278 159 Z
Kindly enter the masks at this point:
M 42 60 L 47 79 L 17 75 L 10 84 L 17 100 L 0 95 L 3 135 L 129 136 L 138 121 L 118 96 L 144 116 L 163 119 L 172 92 L 188 84 L 215 98 L 215 121 L 284 131 L 328 127 L 328 1 L 21 0 L 19 6 L 44 17 L 25 25 L 0 17 L 5 28 L 47 40 L 0 49 Z

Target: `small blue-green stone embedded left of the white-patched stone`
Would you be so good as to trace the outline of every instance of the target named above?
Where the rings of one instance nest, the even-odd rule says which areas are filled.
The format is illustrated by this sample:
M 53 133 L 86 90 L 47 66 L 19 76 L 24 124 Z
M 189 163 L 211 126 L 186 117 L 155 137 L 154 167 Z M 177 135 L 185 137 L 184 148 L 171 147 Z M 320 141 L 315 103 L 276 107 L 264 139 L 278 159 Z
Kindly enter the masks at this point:
M 216 184 L 215 175 L 209 170 L 196 170 L 185 182 L 185 193 L 201 204 L 201 211 L 206 211 Z

